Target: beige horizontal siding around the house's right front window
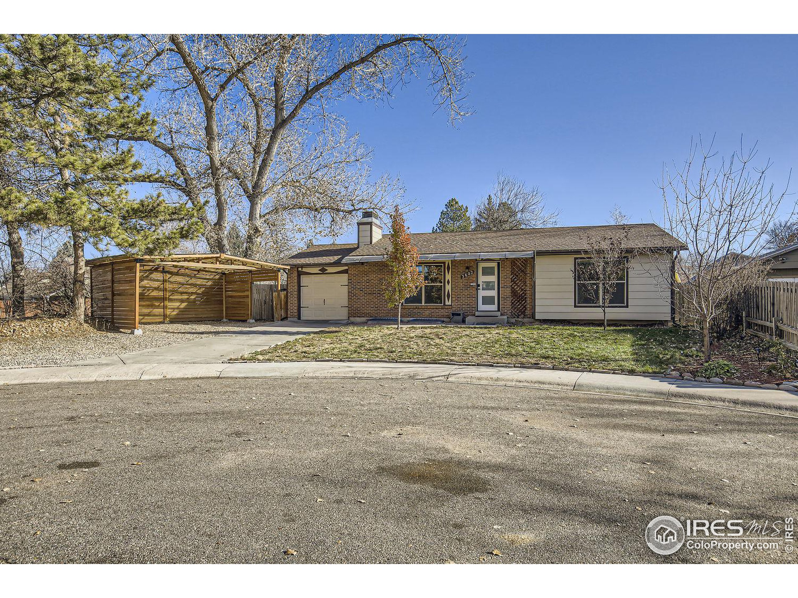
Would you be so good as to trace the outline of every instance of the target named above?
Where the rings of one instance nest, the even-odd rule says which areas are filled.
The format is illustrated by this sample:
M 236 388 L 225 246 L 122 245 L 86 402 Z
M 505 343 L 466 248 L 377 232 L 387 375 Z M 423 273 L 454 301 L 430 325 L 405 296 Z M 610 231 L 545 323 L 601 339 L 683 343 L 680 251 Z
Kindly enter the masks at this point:
M 535 262 L 535 318 L 600 320 L 599 308 L 574 307 L 574 258 L 581 254 L 538 255 Z M 658 281 L 660 284 L 658 285 Z M 607 319 L 670 321 L 667 277 L 650 258 L 635 258 L 629 268 L 629 307 L 607 309 Z

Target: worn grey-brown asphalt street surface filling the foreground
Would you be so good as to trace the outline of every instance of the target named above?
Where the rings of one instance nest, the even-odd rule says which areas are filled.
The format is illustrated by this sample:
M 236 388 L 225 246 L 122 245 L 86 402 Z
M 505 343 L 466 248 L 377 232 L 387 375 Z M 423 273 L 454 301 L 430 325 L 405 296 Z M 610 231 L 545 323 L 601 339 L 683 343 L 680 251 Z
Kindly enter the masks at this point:
M 399 380 L 0 388 L 7 562 L 796 562 L 648 549 L 798 510 L 798 419 Z

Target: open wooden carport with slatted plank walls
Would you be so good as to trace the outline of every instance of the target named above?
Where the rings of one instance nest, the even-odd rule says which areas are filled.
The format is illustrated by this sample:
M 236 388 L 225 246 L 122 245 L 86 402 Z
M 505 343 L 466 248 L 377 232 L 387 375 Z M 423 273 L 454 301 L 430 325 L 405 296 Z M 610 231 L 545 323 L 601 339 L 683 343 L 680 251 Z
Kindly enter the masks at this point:
M 86 261 L 92 315 L 120 329 L 199 320 L 252 320 L 252 285 L 287 266 L 226 254 L 114 255 Z

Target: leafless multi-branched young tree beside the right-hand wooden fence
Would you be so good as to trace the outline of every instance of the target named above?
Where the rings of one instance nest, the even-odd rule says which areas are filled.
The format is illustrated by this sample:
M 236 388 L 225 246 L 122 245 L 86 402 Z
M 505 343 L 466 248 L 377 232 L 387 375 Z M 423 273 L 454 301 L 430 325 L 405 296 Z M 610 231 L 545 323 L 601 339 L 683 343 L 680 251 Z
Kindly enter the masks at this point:
M 691 141 L 687 159 L 663 167 L 664 228 L 687 249 L 678 259 L 678 290 L 685 321 L 701 330 L 704 359 L 712 357 L 710 330 L 729 304 L 760 285 L 768 263 L 757 258 L 767 242 L 765 232 L 779 214 L 796 214 L 796 203 L 786 200 L 789 177 L 777 191 L 768 181 L 772 163 L 755 166 L 757 146 L 741 145 L 728 158 Z M 678 253 L 679 248 L 671 250 Z M 652 253 L 650 263 L 658 281 L 674 279 L 673 254 Z

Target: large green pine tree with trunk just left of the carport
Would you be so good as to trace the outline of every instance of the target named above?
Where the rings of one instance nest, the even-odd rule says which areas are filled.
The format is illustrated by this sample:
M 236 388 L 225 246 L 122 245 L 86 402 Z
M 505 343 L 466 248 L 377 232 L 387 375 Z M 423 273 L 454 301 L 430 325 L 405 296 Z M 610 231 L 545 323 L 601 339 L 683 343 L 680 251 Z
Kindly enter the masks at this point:
M 153 136 L 142 104 L 149 81 L 125 69 L 113 36 L 0 36 L 0 114 L 14 120 L 2 151 L 38 172 L 26 217 L 69 230 L 73 308 L 85 313 L 85 245 L 162 253 L 199 234 L 197 211 L 158 193 L 132 198 L 134 183 L 164 181 L 144 171 L 120 136 Z M 10 195 L 10 194 L 7 194 Z

